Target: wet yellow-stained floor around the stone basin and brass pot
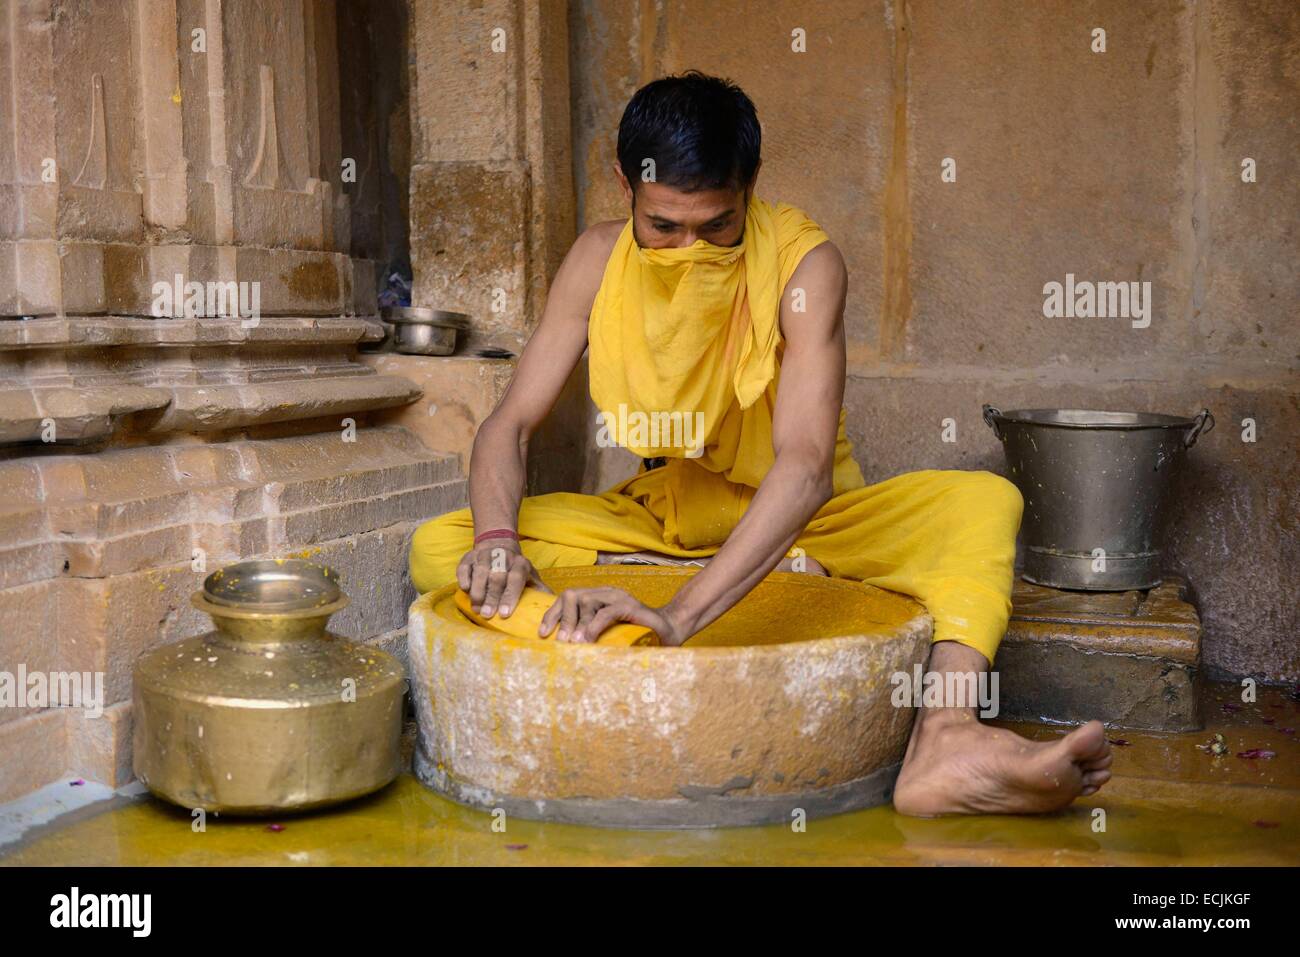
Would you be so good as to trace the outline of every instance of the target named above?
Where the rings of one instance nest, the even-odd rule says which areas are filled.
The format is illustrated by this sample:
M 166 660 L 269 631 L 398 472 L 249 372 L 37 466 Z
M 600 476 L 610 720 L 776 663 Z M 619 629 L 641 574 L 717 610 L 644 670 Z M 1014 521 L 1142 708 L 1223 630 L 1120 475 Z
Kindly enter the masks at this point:
M 1204 732 L 1187 735 L 1112 732 L 1114 779 L 1045 817 L 920 820 L 875 807 L 810 820 L 805 832 L 510 820 L 500 833 L 490 815 L 403 775 L 342 809 L 273 822 L 209 817 L 204 832 L 187 811 L 142 800 L 56 823 L 0 865 L 1300 865 L 1300 701 L 1261 689 L 1245 705 L 1240 689 L 1216 685 L 1205 719 Z M 1226 754 L 1199 746 L 1216 732 Z M 1275 757 L 1238 757 L 1249 749 Z M 1095 809 L 1105 810 L 1105 830 Z

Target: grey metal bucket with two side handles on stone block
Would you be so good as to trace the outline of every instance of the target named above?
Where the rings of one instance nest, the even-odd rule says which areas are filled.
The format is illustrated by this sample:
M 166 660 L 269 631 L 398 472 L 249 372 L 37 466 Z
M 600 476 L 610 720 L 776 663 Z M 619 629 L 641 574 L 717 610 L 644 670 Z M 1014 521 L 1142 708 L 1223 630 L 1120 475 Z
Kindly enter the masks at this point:
M 1126 592 L 1160 584 L 1161 511 L 1187 450 L 1214 428 L 1154 412 L 984 406 L 1024 497 L 1023 577 L 1039 585 Z

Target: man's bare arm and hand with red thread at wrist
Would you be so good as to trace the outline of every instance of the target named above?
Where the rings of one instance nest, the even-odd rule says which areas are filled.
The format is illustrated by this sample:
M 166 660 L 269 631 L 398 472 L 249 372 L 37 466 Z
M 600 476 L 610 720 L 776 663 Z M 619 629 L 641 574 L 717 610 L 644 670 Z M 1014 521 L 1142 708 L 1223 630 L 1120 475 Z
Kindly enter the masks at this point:
M 517 531 L 528 439 L 582 358 L 592 303 L 621 228 L 621 222 L 602 222 L 573 243 L 506 394 L 478 428 L 469 459 L 469 508 L 476 534 L 499 528 Z M 502 537 L 471 549 L 460 560 L 456 579 L 474 610 L 490 618 L 497 609 L 503 615 L 512 611 L 524 585 L 536 581 L 536 575 L 519 544 Z

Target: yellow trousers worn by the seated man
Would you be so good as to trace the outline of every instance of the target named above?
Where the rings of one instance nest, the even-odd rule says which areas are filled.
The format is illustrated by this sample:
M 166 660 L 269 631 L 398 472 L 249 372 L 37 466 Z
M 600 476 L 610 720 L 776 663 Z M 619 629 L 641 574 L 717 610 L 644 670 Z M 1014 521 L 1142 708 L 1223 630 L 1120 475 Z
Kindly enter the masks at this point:
M 524 554 L 537 568 L 595 564 L 599 551 L 715 554 L 753 490 L 738 490 L 733 501 L 715 494 L 679 499 L 666 494 L 664 473 L 641 472 L 599 495 L 525 498 L 519 510 Z M 991 472 L 909 472 L 836 495 L 796 546 L 836 577 L 916 598 L 935 619 L 935 641 L 959 641 L 992 662 L 1011 611 L 1022 508 L 1019 490 Z M 688 528 L 694 547 L 679 534 Z M 716 542 L 697 545 L 702 534 Z M 473 537 L 468 508 L 416 529 L 415 586 L 424 593 L 455 581 Z

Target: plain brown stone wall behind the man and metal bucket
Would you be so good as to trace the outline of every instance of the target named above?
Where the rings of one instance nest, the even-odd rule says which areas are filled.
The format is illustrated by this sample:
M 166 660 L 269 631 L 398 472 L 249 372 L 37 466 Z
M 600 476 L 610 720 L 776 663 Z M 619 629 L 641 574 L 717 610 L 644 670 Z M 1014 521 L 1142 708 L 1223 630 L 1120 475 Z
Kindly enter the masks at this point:
M 576 0 L 569 38 L 578 228 L 627 216 L 610 164 L 641 83 L 701 69 L 754 99 L 759 195 L 805 208 L 849 264 L 845 402 L 868 481 L 1004 472 L 984 402 L 1209 407 L 1170 571 L 1212 674 L 1300 679 L 1300 7 Z M 1045 319 L 1044 283 L 1067 273 L 1149 281 L 1150 325 Z M 630 468 L 598 460 L 598 485 Z

